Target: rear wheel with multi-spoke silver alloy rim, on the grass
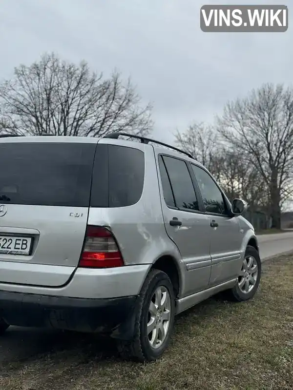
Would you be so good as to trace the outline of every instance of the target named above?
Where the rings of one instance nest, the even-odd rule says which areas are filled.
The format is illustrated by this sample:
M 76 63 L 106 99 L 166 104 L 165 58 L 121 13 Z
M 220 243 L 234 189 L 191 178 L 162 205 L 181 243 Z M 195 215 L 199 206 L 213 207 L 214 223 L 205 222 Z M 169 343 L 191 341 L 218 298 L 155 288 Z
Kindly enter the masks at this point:
M 158 302 L 163 304 L 160 306 Z M 175 295 L 172 283 L 166 273 L 152 269 L 136 302 L 134 336 L 130 341 L 118 341 L 120 355 L 124 359 L 139 362 L 158 359 L 168 348 L 174 316 Z M 156 336 L 158 343 L 155 342 Z

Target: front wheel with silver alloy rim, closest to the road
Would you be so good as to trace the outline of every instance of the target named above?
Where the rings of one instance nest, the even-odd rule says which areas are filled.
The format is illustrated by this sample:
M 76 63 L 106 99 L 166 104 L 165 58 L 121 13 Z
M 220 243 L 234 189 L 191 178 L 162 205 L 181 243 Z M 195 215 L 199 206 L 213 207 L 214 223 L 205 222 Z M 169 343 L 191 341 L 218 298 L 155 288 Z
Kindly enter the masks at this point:
M 252 263 L 249 263 L 250 262 L 249 259 L 251 259 Z M 257 270 L 257 274 L 253 273 L 253 271 L 255 270 Z M 251 283 L 252 278 L 254 279 L 254 282 Z M 241 274 L 237 278 L 237 282 L 235 286 L 232 289 L 228 290 L 225 295 L 229 300 L 232 301 L 236 301 L 236 302 L 248 301 L 257 292 L 260 279 L 261 279 L 261 260 L 259 257 L 259 253 L 255 248 L 249 245 L 245 251 Z

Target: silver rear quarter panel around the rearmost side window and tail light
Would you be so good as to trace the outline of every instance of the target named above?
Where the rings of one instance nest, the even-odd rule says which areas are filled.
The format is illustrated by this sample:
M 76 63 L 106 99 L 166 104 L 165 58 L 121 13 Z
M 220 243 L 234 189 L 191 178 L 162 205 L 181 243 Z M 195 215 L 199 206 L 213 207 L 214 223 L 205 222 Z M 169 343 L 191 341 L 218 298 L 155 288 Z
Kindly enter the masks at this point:
M 102 139 L 100 142 L 103 141 Z M 110 139 L 104 142 L 116 144 L 115 140 Z M 119 141 L 119 145 L 123 146 L 124 142 Z M 129 141 L 125 141 L 125 146 L 129 146 Z M 171 256 L 177 264 L 180 287 L 184 289 L 184 263 L 178 248 L 169 239 L 165 229 L 154 150 L 149 145 L 134 142 L 132 147 L 145 153 L 145 183 L 140 200 L 126 207 L 91 207 L 88 224 L 105 226 L 112 231 L 126 266 L 152 265 L 164 255 Z

